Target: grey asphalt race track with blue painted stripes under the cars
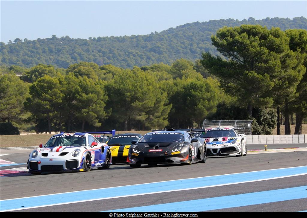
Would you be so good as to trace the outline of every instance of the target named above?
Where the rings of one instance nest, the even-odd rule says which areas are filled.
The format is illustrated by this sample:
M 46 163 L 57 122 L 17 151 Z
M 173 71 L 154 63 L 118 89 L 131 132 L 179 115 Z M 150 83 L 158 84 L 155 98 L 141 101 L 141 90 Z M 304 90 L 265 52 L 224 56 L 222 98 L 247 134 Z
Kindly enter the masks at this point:
M 295 147 L 301 149 L 278 150 Z M 32 150 L 1 150 L 8 164 L 0 164 L 0 211 L 307 211 L 306 147 L 248 145 L 247 156 L 208 157 L 207 163 L 42 175 L 25 172 Z

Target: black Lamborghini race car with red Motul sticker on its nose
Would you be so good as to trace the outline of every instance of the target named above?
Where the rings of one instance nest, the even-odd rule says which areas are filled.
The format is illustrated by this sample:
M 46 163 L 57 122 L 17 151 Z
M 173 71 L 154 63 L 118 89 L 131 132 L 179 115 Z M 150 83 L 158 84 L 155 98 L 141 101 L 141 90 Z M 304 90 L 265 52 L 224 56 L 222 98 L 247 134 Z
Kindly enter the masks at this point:
M 132 168 L 141 164 L 192 164 L 207 160 L 206 144 L 198 143 L 198 139 L 192 138 L 187 131 L 154 131 L 145 134 L 138 142 L 132 141 L 132 144 L 127 159 Z

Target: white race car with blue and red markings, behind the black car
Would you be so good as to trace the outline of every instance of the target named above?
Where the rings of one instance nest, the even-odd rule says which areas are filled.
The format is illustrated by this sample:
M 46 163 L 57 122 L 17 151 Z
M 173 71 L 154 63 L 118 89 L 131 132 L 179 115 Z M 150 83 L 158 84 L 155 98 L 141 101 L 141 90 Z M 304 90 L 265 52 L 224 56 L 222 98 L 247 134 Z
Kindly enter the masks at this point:
M 239 128 L 209 128 L 206 133 L 201 133 L 199 139 L 206 143 L 208 156 L 246 156 L 246 135 L 238 134 L 235 129 Z

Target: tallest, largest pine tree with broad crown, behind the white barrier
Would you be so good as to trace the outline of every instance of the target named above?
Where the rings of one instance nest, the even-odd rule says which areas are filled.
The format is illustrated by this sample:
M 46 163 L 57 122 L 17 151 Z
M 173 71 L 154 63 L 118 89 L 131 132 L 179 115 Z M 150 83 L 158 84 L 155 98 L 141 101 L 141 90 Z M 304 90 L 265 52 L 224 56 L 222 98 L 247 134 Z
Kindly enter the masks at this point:
M 303 68 L 300 55 L 290 51 L 283 31 L 260 25 L 224 27 L 212 36 L 212 44 L 227 60 L 203 53 L 201 63 L 221 78 L 227 93 L 247 104 L 251 117 L 253 107 L 269 107 L 273 100 L 288 111 L 286 102 Z

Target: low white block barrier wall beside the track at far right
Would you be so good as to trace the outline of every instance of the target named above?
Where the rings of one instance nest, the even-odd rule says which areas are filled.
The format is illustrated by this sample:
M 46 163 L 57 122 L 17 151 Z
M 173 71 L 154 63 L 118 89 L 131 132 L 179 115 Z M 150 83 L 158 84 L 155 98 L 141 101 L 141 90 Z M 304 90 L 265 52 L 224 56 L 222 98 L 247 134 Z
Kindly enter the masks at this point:
M 247 135 L 247 144 L 307 143 L 307 134 L 302 135 Z

